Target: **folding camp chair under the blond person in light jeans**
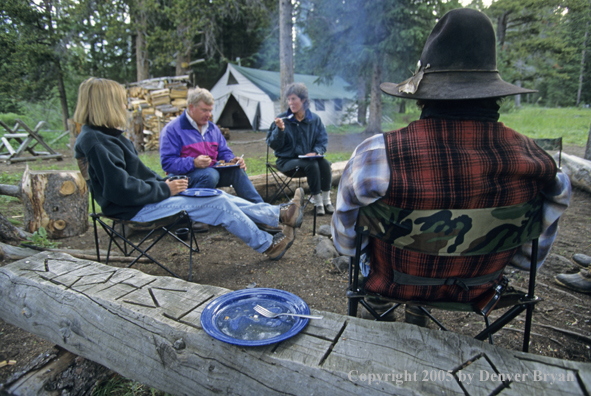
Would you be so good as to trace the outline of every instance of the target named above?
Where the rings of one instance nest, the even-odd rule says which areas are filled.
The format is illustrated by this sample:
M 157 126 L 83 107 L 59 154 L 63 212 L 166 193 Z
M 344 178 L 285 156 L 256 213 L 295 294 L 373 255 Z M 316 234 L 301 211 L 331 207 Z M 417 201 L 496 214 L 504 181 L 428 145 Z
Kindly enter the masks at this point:
M 101 261 L 101 254 L 99 250 L 99 238 L 98 238 L 98 227 L 97 223 L 102 227 L 109 238 L 109 243 L 107 247 L 107 257 L 105 259 L 105 264 L 109 264 L 109 256 L 111 254 L 111 248 L 113 245 L 117 246 L 117 248 L 125 255 L 125 257 L 130 257 L 133 254 L 137 254 L 133 261 L 131 261 L 127 267 L 130 268 L 134 264 L 138 263 L 140 259 L 146 258 L 149 262 L 153 262 L 154 264 L 158 265 L 160 268 L 168 272 L 174 277 L 179 278 L 177 274 L 175 274 L 171 269 L 166 267 L 163 263 L 158 261 L 156 258 L 149 254 L 150 249 L 152 249 L 158 242 L 160 242 L 164 237 L 169 236 L 176 240 L 177 242 L 181 243 L 182 245 L 189 248 L 189 277 L 188 280 L 191 281 L 192 279 L 192 271 L 193 271 L 193 253 L 199 253 L 199 246 L 197 245 L 197 239 L 195 238 L 195 233 L 193 232 L 193 228 L 191 227 L 191 218 L 186 211 L 180 211 L 177 214 L 158 219 L 152 222 L 137 222 L 137 221 L 130 221 L 130 220 L 122 220 L 113 217 L 105 216 L 102 213 L 97 213 L 95 209 L 94 198 L 92 194 L 92 188 L 90 187 L 89 182 L 89 175 L 88 175 L 88 163 L 86 162 L 85 158 L 78 159 L 78 167 L 80 168 L 80 172 L 82 176 L 86 180 L 86 184 L 88 185 L 88 189 L 90 191 L 90 200 L 91 200 L 91 213 L 90 217 L 92 218 L 92 223 L 94 226 L 94 242 L 96 246 L 96 258 L 97 261 Z M 107 224 L 106 221 L 110 220 L 112 222 L 111 225 Z M 186 226 L 189 229 L 189 243 L 183 241 L 178 236 L 175 235 L 174 230 L 178 226 Z M 126 235 L 126 229 L 134 229 L 138 231 L 147 231 L 147 235 L 143 236 L 139 242 L 133 242 Z M 154 237 L 154 239 L 150 239 Z M 193 247 L 193 243 L 195 247 Z M 146 246 L 147 245 L 147 246 Z M 145 246 L 145 247 L 144 247 Z

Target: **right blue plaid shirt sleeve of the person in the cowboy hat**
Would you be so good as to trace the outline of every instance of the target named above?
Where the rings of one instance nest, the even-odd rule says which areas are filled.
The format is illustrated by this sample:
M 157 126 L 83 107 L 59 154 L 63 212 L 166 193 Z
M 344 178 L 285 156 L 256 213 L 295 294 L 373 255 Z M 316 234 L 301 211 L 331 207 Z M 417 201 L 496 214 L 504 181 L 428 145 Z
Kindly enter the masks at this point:
M 550 248 L 558 233 L 558 219 L 570 203 L 571 192 L 570 179 L 561 170 L 558 170 L 554 183 L 548 185 L 542 191 L 544 206 L 542 209 L 542 234 L 538 240 L 538 268 L 544 264 L 550 253 Z M 531 243 L 523 245 L 513 256 L 511 265 L 523 270 L 529 270 L 531 252 Z

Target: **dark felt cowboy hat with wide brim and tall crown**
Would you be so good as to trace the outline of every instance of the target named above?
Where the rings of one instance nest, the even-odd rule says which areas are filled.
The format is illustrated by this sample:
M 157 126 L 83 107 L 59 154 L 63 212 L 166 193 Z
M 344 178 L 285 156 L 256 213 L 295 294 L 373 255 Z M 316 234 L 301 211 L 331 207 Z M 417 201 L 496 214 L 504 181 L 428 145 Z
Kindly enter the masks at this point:
M 497 70 L 495 32 L 483 13 L 460 8 L 445 14 L 429 35 L 415 74 L 380 85 L 407 99 L 460 100 L 537 92 L 509 84 Z

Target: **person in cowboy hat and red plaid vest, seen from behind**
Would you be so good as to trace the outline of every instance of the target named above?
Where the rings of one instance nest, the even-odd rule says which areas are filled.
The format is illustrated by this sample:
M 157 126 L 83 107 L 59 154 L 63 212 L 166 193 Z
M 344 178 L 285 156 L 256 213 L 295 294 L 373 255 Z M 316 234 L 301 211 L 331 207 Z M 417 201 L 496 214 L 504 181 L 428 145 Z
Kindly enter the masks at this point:
M 551 213 L 545 212 L 549 227 L 540 239 L 541 265 L 556 236 L 558 217 L 568 206 L 570 182 L 532 139 L 498 122 L 500 98 L 536 91 L 501 79 L 489 18 L 467 8 L 448 12 L 427 39 L 415 74 L 399 84 L 383 83 L 381 89 L 417 100 L 421 117 L 365 140 L 354 151 L 341 177 L 332 218 L 337 250 L 353 256 L 359 208 L 379 199 L 404 209 L 475 209 L 524 203 L 543 192 L 551 199 L 545 202 Z M 461 268 L 461 278 L 487 275 L 494 272 L 489 268 L 510 261 L 529 266 L 515 250 L 491 254 L 483 265 L 475 256 L 427 256 L 377 239 L 369 243 L 372 266 L 404 267 L 415 276 L 437 278 L 442 266 Z M 368 270 L 365 289 L 387 297 L 426 299 L 442 290 L 446 299 L 455 301 L 478 297 L 456 285 L 394 283 L 388 271 Z M 500 276 L 494 280 L 499 281 Z

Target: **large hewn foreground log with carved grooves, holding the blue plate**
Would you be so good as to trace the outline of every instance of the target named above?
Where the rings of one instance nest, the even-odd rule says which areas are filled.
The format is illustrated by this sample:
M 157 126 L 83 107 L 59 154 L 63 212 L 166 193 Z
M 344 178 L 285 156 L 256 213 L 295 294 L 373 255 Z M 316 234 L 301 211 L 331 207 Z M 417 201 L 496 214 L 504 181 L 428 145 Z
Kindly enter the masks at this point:
M 231 345 L 201 326 L 203 310 L 228 292 L 43 252 L 0 267 L 0 319 L 172 395 L 575 395 L 591 389 L 589 363 L 330 312 L 317 312 L 324 319 L 281 343 Z M 500 374 L 518 374 L 519 381 Z

